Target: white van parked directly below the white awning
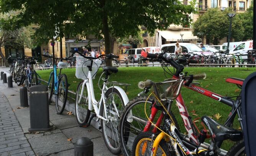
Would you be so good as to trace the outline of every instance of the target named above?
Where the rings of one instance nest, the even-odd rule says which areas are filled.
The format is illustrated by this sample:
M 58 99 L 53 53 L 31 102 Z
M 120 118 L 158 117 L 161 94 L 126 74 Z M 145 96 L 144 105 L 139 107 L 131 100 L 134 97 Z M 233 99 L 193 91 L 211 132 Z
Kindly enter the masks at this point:
M 175 51 L 177 49 L 177 47 L 175 45 L 176 45 L 176 43 L 163 44 L 160 47 L 161 51 L 159 51 L 159 53 L 162 53 L 162 52 L 175 53 Z M 194 53 L 194 54 L 201 55 L 201 53 L 205 51 L 201 47 L 197 46 L 196 44 L 192 44 L 192 43 L 179 43 L 179 46 L 181 46 L 183 54 Z

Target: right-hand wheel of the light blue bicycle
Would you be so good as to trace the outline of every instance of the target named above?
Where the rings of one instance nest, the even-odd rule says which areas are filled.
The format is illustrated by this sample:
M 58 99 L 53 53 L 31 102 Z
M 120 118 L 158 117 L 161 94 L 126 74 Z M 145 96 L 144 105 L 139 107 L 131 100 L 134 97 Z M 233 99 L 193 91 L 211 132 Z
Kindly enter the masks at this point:
M 61 74 L 58 80 L 58 88 L 55 100 L 57 114 L 61 114 L 66 106 L 68 87 L 69 85 L 67 84 L 67 75 Z

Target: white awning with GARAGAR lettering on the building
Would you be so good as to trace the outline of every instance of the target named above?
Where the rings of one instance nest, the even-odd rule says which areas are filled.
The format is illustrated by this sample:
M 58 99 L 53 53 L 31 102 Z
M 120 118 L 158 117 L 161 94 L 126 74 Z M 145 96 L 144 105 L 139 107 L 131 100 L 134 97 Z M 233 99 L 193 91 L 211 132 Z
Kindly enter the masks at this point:
M 193 36 L 192 31 L 158 31 L 166 41 L 181 41 L 181 34 L 183 41 L 199 40 L 197 36 Z

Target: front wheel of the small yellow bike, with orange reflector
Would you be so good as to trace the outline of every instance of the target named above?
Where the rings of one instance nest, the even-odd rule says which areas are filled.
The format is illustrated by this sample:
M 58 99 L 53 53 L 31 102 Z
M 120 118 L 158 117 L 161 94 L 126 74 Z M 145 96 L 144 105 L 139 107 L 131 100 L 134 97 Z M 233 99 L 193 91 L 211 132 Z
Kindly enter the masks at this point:
M 150 156 L 151 155 L 151 132 L 140 133 L 133 142 L 133 156 Z M 171 152 L 166 144 L 166 141 L 161 140 L 156 151 L 156 156 L 171 156 Z

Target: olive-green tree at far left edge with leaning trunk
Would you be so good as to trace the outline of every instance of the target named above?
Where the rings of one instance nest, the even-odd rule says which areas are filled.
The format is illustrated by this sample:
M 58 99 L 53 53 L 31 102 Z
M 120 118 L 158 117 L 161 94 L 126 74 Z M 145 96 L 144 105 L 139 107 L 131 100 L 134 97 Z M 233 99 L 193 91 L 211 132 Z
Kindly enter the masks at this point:
M 34 46 L 35 43 L 33 39 L 31 39 L 31 36 L 34 34 L 34 30 L 31 26 L 11 29 L 10 25 L 13 15 L 17 15 L 17 11 L 0 14 L 0 47 L 36 47 Z M 4 57 L 1 48 L 0 56 L 5 62 L 6 67 L 9 67 L 8 61 Z

